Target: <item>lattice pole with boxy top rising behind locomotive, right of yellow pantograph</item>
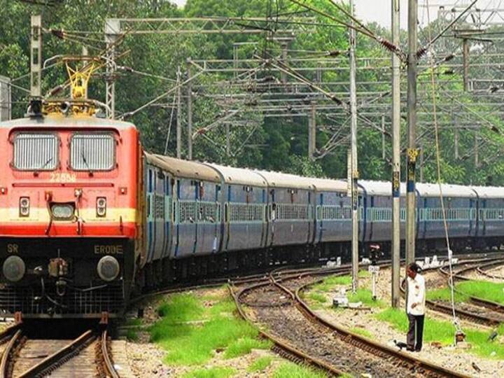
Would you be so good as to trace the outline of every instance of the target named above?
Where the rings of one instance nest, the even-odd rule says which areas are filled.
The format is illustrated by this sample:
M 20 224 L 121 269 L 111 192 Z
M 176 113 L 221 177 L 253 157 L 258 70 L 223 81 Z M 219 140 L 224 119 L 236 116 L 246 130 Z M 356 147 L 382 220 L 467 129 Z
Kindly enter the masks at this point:
M 116 118 L 116 48 L 114 44 L 120 33 L 120 20 L 107 18 L 105 21 L 105 43 L 106 43 L 106 82 L 105 82 L 105 104 L 106 118 Z

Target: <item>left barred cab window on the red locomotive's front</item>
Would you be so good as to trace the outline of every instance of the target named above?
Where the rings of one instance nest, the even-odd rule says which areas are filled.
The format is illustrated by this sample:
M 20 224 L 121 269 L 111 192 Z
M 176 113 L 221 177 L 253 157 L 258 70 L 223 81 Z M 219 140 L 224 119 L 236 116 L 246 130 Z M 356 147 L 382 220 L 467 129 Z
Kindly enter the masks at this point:
M 15 135 L 13 166 L 20 171 L 52 171 L 58 164 L 55 134 L 20 132 Z

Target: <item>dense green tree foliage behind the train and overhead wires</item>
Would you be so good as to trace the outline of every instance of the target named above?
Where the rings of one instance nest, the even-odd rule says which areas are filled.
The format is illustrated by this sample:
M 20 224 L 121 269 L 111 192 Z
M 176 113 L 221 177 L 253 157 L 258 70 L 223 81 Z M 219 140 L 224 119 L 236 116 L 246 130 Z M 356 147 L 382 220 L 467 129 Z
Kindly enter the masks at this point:
M 55 6 L 33 5 L 25 1 L 0 0 L 0 75 L 10 78 L 20 78 L 29 72 L 29 22 L 30 15 L 41 13 L 44 27 L 65 29 L 69 31 L 95 31 L 88 38 L 97 38 L 102 41 L 104 22 L 106 18 L 172 18 L 172 17 L 202 17 L 202 16 L 246 16 L 264 17 L 274 14 L 277 9 L 295 10 L 288 0 L 188 0 L 184 8 L 177 8 L 166 0 L 52 0 Z M 309 3 L 317 8 L 344 18 L 330 1 L 311 0 Z M 297 8 L 296 8 L 297 9 Z M 313 15 L 311 15 L 313 16 Z M 317 21 L 329 23 L 328 19 L 316 16 Z M 439 29 L 437 20 L 428 28 Z M 377 34 L 388 36 L 388 31 L 378 25 L 369 25 Z M 232 43 L 240 41 L 262 41 L 260 36 L 247 35 L 206 35 L 195 34 L 192 36 L 127 36 L 120 46 L 120 50 L 130 50 L 120 64 L 130 66 L 139 71 L 153 73 L 174 79 L 177 66 L 186 67 L 186 59 L 231 59 Z M 406 38 L 402 35 L 402 41 Z M 403 44 L 404 44 L 403 43 Z M 93 45 L 100 45 L 97 41 Z M 444 50 L 459 51 L 460 45 L 456 41 L 442 39 Z M 101 44 L 103 45 L 103 44 Z M 260 44 L 260 46 L 264 47 Z M 498 50 L 498 44 L 484 47 L 483 52 Z M 348 35 L 341 27 L 316 27 L 311 34 L 303 34 L 296 38 L 291 46 L 300 50 L 346 50 L 348 48 Z M 80 54 L 81 45 L 71 41 L 62 41 L 59 38 L 44 35 L 43 58 L 47 59 L 57 54 Z M 96 52 L 91 50 L 91 53 Z M 240 57 L 251 56 L 252 48 L 240 50 Z M 360 57 L 389 57 L 377 43 L 368 38 L 358 36 L 357 54 Z M 458 76 L 457 76 L 458 75 Z M 211 84 L 223 80 L 220 74 L 204 75 L 199 83 Z M 348 73 L 327 73 L 327 79 L 348 80 Z M 379 73 L 374 71 L 359 73 L 359 79 L 380 80 Z M 442 79 L 441 77 L 438 77 Z M 484 149 L 480 151 L 482 165 L 476 167 L 470 153 L 473 149 L 474 137 L 471 132 L 461 132 L 460 150 L 461 159 L 454 158 L 454 132 L 444 128 L 440 133 L 442 151 L 440 163 L 442 167 L 442 181 L 452 183 L 473 184 L 499 184 L 504 185 L 504 160 L 501 157 L 503 137 L 500 130 L 504 130 L 503 120 L 492 113 L 491 106 L 475 101 L 474 97 L 464 94 L 462 78 L 458 73 L 451 73 L 449 87 L 436 87 L 435 97 L 446 99 L 444 90 L 460 92 L 456 96 L 458 102 L 470 107 L 479 113 L 489 113 L 489 123 L 493 127 L 481 130 L 481 136 L 486 140 Z M 419 86 L 430 92 L 430 76 L 420 78 Z M 64 82 L 66 73 L 62 66 L 45 71 L 43 75 L 43 92 L 51 87 Z M 28 78 L 21 78 L 15 82 L 17 85 L 29 87 Z M 122 72 L 118 75 L 116 84 L 116 109 L 120 112 L 132 111 L 141 104 L 166 91 L 173 85 L 170 80 L 155 77 L 138 76 Z M 404 83 L 403 83 L 404 85 Z M 384 85 L 381 90 L 389 90 Z M 216 89 L 217 90 L 217 89 Z M 222 89 L 220 89 L 222 90 Z M 13 116 L 20 117 L 25 113 L 27 97 L 20 90 L 13 90 Z M 210 91 L 210 90 L 207 90 Z M 209 125 L 213 120 L 222 116 L 222 109 L 208 96 L 209 92 L 195 92 L 194 125 L 195 129 Z M 453 95 L 453 94 L 452 94 Z M 232 96 L 232 93 L 230 93 Z M 92 80 L 90 97 L 104 101 L 104 80 L 99 77 Z M 169 129 L 170 139 L 167 144 L 167 153 L 174 155 L 175 133 L 174 121 L 170 126 L 172 115 L 172 97 L 165 99 L 165 106 L 153 106 L 146 111 L 138 113 L 131 120 L 141 130 L 144 146 L 149 151 L 156 153 L 165 152 L 165 144 Z M 163 104 L 160 104 L 163 105 Z M 430 109 L 424 109 L 426 113 Z M 185 112 L 186 109 L 183 109 Z M 441 117 L 446 118 L 446 112 Z M 387 113 L 388 116 L 388 113 Z M 185 120 L 186 115 L 183 114 Z M 425 117 L 425 116 L 424 116 Z M 426 117 L 429 117 L 426 116 Z M 232 127 L 231 144 L 239 146 L 246 136 L 251 134 L 246 146 L 238 153 L 228 157 L 225 153 L 224 127 L 216 127 L 207 135 L 217 141 L 218 146 L 211 144 L 204 138 L 198 138 L 194 145 L 194 155 L 198 160 L 210 160 L 240 167 L 256 167 L 261 169 L 274 169 L 295 174 L 311 176 L 328 176 L 344 178 L 346 176 L 346 146 L 337 148 L 333 153 L 326 155 L 316 162 L 307 159 L 307 119 L 306 117 L 290 118 L 263 118 L 258 112 L 249 109 L 241 113 L 238 120 L 246 120 L 243 127 Z M 443 120 L 443 118 L 442 118 Z M 447 119 L 444 119 L 447 120 Z M 322 122 L 322 120 L 318 120 Z M 183 125 L 184 126 L 184 125 Z M 403 139 L 405 140 L 405 122 L 402 125 Z M 430 134 L 433 133 L 433 130 Z M 183 135 L 183 141 L 187 136 Z M 317 134 L 317 146 L 325 144 L 329 135 L 323 132 Z M 405 144 L 402 144 L 405 146 Z M 433 156 L 435 145 L 432 139 L 423 144 L 424 155 Z M 358 154 L 360 176 L 365 179 L 389 180 L 391 176 L 391 139 L 386 139 L 386 159 L 381 156 L 381 133 L 363 123 L 358 124 Z M 467 156 L 465 156 L 467 155 Z M 405 158 L 402 159 L 404 166 Z M 426 162 L 424 177 L 426 181 L 436 179 L 435 159 Z M 404 177 L 404 176 L 403 176 Z

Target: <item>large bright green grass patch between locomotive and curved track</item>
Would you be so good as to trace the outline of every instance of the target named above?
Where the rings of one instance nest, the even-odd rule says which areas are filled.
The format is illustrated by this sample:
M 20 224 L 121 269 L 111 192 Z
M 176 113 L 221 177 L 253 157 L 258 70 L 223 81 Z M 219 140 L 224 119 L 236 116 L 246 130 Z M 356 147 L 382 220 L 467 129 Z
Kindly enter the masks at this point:
M 268 349 L 268 343 L 257 339 L 258 330 L 235 318 L 234 310 L 235 303 L 228 297 L 204 306 L 193 294 L 173 295 L 158 309 L 162 318 L 149 328 L 151 341 L 168 351 L 165 363 L 169 365 L 206 363 L 218 348 L 229 349 L 228 358 L 251 349 Z

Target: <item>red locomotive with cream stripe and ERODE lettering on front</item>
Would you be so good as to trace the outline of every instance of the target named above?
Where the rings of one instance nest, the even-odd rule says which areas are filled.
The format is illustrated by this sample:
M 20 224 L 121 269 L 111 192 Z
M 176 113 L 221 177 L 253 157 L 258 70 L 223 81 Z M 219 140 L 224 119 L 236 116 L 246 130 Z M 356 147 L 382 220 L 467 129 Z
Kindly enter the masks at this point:
M 123 308 L 140 250 L 139 134 L 88 106 L 52 103 L 44 115 L 0 126 L 3 311 L 101 316 Z

